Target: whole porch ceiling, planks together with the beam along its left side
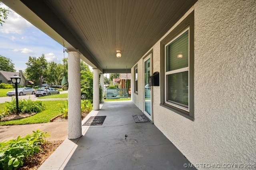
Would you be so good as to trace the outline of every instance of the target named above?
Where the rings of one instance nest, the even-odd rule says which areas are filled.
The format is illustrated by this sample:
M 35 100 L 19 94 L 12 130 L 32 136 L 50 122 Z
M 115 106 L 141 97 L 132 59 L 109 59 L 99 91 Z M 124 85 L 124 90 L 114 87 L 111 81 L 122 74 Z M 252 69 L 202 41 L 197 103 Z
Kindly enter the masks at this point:
M 130 68 L 197 0 L 2 0 L 106 72 Z M 116 57 L 121 50 L 122 57 Z

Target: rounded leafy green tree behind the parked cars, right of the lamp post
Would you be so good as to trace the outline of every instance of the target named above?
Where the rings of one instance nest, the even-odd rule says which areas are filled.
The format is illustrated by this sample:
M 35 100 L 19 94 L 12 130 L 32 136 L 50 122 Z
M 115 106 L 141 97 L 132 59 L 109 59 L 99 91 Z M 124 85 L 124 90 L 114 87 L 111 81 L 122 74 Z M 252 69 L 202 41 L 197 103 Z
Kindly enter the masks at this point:
M 28 57 L 28 63 L 26 63 L 26 74 L 30 80 L 36 80 L 40 82 L 40 86 L 47 78 L 47 66 L 48 63 L 42 54 L 41 57 Z

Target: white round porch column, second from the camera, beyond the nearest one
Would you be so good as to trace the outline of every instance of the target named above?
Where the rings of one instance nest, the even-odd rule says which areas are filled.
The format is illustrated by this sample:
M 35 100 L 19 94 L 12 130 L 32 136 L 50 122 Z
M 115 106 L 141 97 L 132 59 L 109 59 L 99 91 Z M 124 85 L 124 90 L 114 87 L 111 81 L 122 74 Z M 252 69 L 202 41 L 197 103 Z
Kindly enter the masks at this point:
M 93 110 L 100 109 L 99 69 L 93 68 Z

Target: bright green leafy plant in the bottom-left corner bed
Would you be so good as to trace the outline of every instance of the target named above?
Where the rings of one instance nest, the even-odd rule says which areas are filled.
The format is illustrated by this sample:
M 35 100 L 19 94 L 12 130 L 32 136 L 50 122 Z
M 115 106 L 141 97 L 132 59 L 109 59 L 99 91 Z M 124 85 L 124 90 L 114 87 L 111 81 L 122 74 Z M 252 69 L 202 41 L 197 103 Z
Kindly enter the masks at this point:
M 17 139 L 0 143 L 0 169 L 12 170 L 22 166 L 24 159 L 39 152 L 48 136 L 47 132 L 36 130 L 24 138 L 18 136 Z

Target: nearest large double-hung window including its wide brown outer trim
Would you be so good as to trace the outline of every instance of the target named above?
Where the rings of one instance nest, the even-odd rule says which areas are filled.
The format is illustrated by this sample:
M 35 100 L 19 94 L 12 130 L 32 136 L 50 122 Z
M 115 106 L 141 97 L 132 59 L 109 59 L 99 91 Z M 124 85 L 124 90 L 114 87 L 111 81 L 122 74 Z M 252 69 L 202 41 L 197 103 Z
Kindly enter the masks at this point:
M 161 41 L 161 106 L 194 120 L 194 12 Z

